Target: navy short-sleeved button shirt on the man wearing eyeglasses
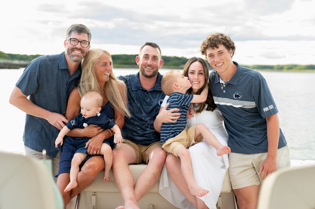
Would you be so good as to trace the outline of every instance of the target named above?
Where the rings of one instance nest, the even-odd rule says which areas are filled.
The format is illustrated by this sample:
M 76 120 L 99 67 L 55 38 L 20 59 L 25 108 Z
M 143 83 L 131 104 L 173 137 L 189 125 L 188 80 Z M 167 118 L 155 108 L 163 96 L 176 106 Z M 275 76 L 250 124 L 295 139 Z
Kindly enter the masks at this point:
M 37 106 L 65 115 L 68 97 L 78 85 L 80 75 L 81 64 L 70 76 L 65 52 L 62 52 L 31 61 L 15 85 Z M 58 150 L 54 141 L 59 131 L 47 120 L 26 114 L 24 145 L 39 152 L 46 149 L 47 155 L 56 157 Z

